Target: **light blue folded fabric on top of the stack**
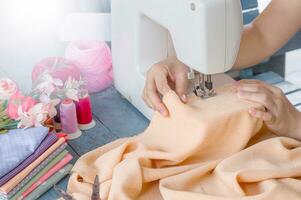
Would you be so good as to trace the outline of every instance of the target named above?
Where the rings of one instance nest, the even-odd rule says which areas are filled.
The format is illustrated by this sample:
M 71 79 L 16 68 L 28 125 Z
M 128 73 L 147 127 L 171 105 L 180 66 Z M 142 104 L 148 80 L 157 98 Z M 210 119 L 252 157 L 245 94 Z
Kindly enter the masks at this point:
M 0 134 L 0 178 L 30 156 L 48 134 L 48 128 L 10 130 Z

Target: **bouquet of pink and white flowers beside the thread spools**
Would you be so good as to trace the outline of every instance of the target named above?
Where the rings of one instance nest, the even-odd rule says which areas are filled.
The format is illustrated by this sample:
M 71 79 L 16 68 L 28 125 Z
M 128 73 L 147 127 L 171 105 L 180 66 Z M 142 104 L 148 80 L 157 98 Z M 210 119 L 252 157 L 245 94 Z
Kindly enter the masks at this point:
M 57 105 L 66 98 L 78 101 L 82 85 L 81 80 L 69 77 L 63 82 L 44 73 L 25 95 L 14 81 L 0 79 L 0 133 L 36 126 L 53 128 L 51 121 L 57 115 Z

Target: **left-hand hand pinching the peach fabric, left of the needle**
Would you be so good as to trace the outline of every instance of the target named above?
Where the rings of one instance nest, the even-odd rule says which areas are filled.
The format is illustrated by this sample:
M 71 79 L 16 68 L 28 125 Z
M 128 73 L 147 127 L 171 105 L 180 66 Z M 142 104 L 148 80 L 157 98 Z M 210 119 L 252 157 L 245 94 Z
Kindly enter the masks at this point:
M 185 103 L 188 87 L 187 67 L 176 58 L 168 58 L 151 67 L 147 72 L 143 91 L 145 103 L 152 109 L 168 116 L 168 110 L 161 100 L 169 90 L 175 90 Z

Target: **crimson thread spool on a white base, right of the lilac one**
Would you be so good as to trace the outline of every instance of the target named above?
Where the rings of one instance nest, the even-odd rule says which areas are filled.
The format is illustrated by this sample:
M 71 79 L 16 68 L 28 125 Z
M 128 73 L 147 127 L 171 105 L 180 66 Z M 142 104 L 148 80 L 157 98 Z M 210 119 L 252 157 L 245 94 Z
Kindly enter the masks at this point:
M 78 127 L 81 130 L 91 129 L 96 124 L 92 117 L 91 99 L 88 90 L 81 90 L 78 96 L 79 101 L 76 102 Z

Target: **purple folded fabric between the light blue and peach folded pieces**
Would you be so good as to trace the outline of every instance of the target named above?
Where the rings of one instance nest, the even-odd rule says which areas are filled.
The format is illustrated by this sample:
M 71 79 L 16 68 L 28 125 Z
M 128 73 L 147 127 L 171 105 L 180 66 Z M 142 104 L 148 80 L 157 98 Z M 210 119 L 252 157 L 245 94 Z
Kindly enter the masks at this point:
M 35 161 L 40 155 L 42 155 L 51 145 L 53 145 L 58 140 L 58 137 L 55 134 L 49 134 L 40 146 L 36 149 L 36 151 L 31 154 L 28 158 L 26 158 L 20 165 L 18 165 L 15 169 L 11 170 L 5 176 L 0 179 L 0 186 L 4 185 L 11 178 L 16 176 L 19 172 L 25 169 L 28 165 L 30 165 L 33 161 Z

